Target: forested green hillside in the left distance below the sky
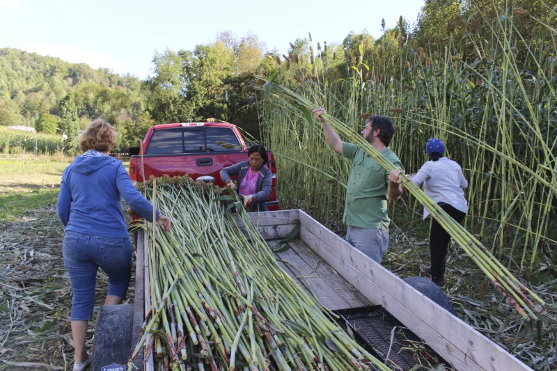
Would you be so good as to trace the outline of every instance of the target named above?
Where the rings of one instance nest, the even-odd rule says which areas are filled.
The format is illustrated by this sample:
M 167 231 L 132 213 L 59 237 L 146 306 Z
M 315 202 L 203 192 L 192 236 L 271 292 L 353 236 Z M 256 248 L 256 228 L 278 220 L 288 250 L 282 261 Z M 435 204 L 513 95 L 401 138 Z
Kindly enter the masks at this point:
M 125 132 L 141 120 L 144 100 L 136 77 L 0 49 L 0 125 L 38 126 L 38 131 L 50 134 L 58 127 L 72 145 L 79 129 L 97 117 Z M 50 125 L 53 120 L 56 125 Z

